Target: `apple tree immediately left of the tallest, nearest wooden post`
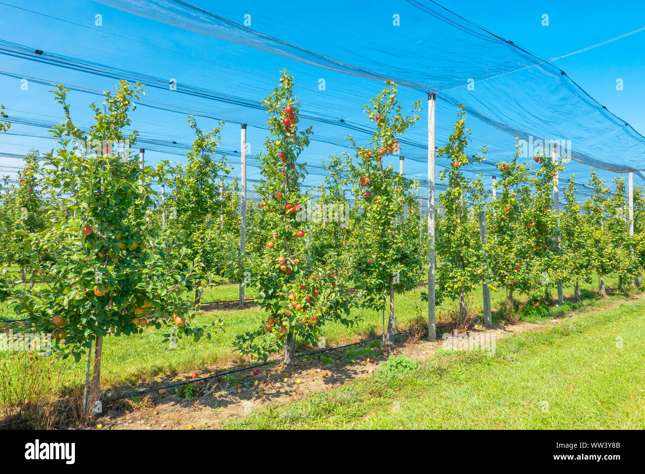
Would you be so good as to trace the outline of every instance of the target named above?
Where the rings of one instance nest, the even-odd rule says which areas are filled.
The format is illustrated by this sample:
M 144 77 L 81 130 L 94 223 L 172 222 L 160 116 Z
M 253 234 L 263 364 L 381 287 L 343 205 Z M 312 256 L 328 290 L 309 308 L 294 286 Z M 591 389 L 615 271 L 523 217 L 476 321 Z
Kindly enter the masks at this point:
M 415 288 L 424 266 L 416 241 L 404 232 L 403 221 L 405 210 L 415 203 L 418 183 L 383 163 L 400 152 L 399 139 L 419 119 L 421 110 L 417 101 L 410 110 L 413 115 L 402 114 L 397 90 L 396 84 L 387 81 L 366 104 L 364 112 L 375 124 L 370 143 L 361 145 L 350 137 L 358 161 L 352 166 L 352 193 L 360 209 L 351 246 L 355 284 L 364 290 L 365 306 L 381 310 L 389 300 L 387 344 L 394 342 L 395 292 Z

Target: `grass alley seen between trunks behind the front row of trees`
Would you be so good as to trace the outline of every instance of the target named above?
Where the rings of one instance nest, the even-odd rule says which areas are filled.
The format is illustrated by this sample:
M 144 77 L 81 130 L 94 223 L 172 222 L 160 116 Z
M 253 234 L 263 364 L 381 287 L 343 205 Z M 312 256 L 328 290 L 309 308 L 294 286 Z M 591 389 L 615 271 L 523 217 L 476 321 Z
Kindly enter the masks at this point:
M 607 281 L 608 286 L 613 284 L 611 279 Z M 591 293 L 595 286 L 581 285 L 583 294 L 586 291 Z M 237 299 L 237 285 L 225 284 L 212 286 L 204 291 L 202 301 L 226 301 Z M 247 291 L 247 295 L 248 295 Z M 427 304 L 421 301 L 421 290 L 409 291 L 397 295 L 396 314 L 397 330 L 411 327 L 424 326 L 427 323 Z M 573 290 L 567 290 L 566 295 L 571 296 Z M 252 297 L 248 295 L 248 297 Z M 612 296 L 615 297 L 615 296 Z M 493 308 L 501 308 L 504 302 L 504 293 L 501 291 L 491 294 Z M 468 300 L 471 311 L 482 311 L 481 291 L 477 291 Z M 449 317 L 456 309 L 455 302 L 444 302 L 437 308 L 439 318 Z M 566 308 L 560 308 L 564 311 Z M 558 310 L 555 310 L 558 311 Z M 326 343 L 329 347 L 340 345 L 351 341 L 359 341 L 375 335 L 382 331 L 381 312 L 353 308 L 353 315 L 358 313 L 359 324 L 346 328 L 342 324 L 328 324 L 325 328 Z M 540 313 L 539 317 L 531 315 L 532 319 L 550 318 L 553 308 L 550 311 Z M 443 316 L 442 316 L 443 315 Z M 201 371 L 204 366 L 223 367 L 235 362 L 243 361 L 238 352 L 233 351 L 232 342 L 237 334 L 257 328 L 259 321 L 265 317 L 264 313 L 257 307 L 244 310 L 217 310 L 204 312 L 194 324 L 210 325 L 210 322 L 221 318 L 224 321 L 224 331 L 214 333 L 209 340 L 193 341 L 182 339 L 176 347 L 162 343 L 163 331 L 148 329 L 141 335 L 131 337 L 106 337 L 103 343 L 103 363 L 101 365 L 101 385 L 104 389 L 119 388 L 122 386 L 136 386 L 152 382 L 159 375 L 173 376 L 177 373 Z M 499 317 L 499 315 L 497 315 Z M 14 319 L 11 303 L 5 302 L 0 305 L 0 320 Z M 301 347 L 301 350 L 307 348 Z M 0 364 L 9 377 L 18 379 L 22 376 L 19 365 L 12 362 L 11 353 L 0 352 Z M 49 359 L 49 358 L 47 358 Z M 78 388 L 84 382 L 84 370 L 86 359 L 75 363 L 73 360 L 61 360 L 52 356 L 54 368 L 61 372 L 64 380 L 64 387 Z M 50 362 L 45 358 L 40 359 L 43 364 Z M 3 363 L 4 362 L 4 363 Z

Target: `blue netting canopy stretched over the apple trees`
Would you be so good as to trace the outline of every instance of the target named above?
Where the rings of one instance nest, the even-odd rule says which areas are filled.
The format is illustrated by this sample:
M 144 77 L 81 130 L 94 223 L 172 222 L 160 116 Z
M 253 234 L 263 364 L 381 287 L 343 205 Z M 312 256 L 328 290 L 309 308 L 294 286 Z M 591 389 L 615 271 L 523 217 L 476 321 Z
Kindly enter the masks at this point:
M 464 104 L 470 151 L 489 150 L 472 171 L 488 183 L 495 163 L 513 156 L 517 139 L 528 162 L 535 150 L 559 144 L 567 161 L 560 184 L 575 173 L 581 197 L 588 193 L 590 167 L 606 181 L 627 172 L 645 179 L 645 138 L 629 124 L 549 61 L 430 0 L 368 6 L 324 0 L 288 12 L 259 0 L 25 0 L 0 3 L 0 13 L 0 85 L 15 91 L 0 97 L 12 121 L 0 143 L 5 171 L 19 168 L 29 148 L 52 148 L 48 130 L 63 120 L 48 93 L 52 86 L 63 83 L 72 91 L 72 116 L 89 126 L 87 105 L 126 79 L 145 84 L 132 124 L 147 162 L 181 160 L 193 139 L 185 116 L 194 114 L 201 128 L 226 121 L 221 152 L 234 166 L 232 175 L 239 175 L 239 128 L 246 123 L 252 184 L 266 136 L 261 101 L 286 69 L 301 101 L 301 126 L 315 132 L 301 157 L 310 186 L 326 175 L 329 155 L 353 155 L 348 135 L 368 143 L 375 125 L 362 109 L 386 80 L 402 86 L 397 99 L 405 109 L 415 101 L 425 108 L 428 94 L 436 94 L 440 147 Z M 425 110 L 400 143 L 406 175 L 426 186 Z M 390 155 L 386 164 L 398 161 Z M 438 168 L 448 164 L 447 157 L 437 158 Z

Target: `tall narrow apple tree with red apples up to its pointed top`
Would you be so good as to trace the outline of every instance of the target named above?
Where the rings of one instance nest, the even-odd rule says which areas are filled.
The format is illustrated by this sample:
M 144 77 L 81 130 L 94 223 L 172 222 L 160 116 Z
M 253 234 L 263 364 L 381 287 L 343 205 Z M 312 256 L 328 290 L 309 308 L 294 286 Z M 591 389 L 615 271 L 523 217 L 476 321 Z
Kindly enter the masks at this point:
M 319 255 L 306 263 L 308 222 L 297 215 L 305 212 L 310 196 L 301 191 L 305 170 L 297 159 L 313 132 L 311 127 L 299 130 L 300 104 L 292 88 L 293 78 L 285 71 L 263 102 L 269 133 L 259 155 L 262 178 L 255 187 L 260 215 L 253 232 L 264 244 L 250 255 L 250 268 L 266 319 L 257 330 L 235 338 L 237 349 L 255 359 L 266 360 L 284 349 L 285 366 L 293 363 L 297 339 L 315 346 L 326 322 L 353 322 L 348 293 L 342 291 L 332 263 Z

